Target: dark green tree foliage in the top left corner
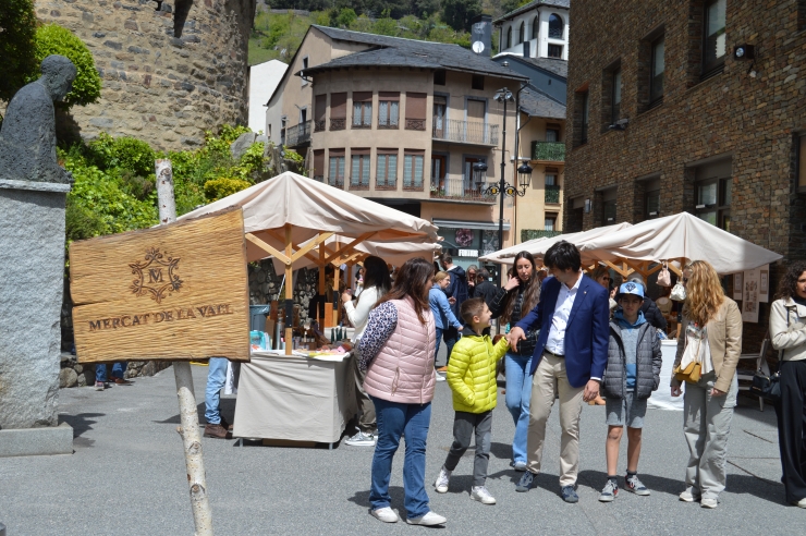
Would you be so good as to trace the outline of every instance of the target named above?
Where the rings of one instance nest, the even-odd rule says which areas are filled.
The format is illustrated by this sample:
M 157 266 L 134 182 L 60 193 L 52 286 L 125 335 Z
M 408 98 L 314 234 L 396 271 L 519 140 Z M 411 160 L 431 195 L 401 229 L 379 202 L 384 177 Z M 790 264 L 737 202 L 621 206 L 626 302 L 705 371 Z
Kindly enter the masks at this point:
M 11 100 L 36 71 L 36 15 L 32 0 L 2 0 L 0 8 L 0 100 Z

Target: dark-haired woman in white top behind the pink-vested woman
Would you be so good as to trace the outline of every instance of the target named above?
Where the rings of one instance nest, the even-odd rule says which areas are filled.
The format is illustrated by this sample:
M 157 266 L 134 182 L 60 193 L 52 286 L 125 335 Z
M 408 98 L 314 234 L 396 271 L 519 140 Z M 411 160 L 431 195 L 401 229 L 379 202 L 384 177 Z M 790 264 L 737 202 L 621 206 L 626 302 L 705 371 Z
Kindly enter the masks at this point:
M 353 304 L 353 296 L 349 292 L 345 291 L 341 295 L 347 319 L 355 328 L 355 334 L 353 336 L 353 376 L 355 378 L 355 398 L 358 407 L 358 431 L 353 437 L 345 439 L 344 443 L 353 447 L 373 447 L 377 441 L 377 422 L 375 405 L 364 391 L 364 377 L 367 371 L 362 371 L 358 368 L 358 362 L 361 361 L 358 340 L 367 328 L 369 312 L 378 303 L 378 300 L 389 292 L 392 280 L 389 277 L 387 263 L 380 257 L 370 255 L 364 260 L 364 267 L 361 270 L 364 277 L 364 290 L 358 296 L 357 305 Z

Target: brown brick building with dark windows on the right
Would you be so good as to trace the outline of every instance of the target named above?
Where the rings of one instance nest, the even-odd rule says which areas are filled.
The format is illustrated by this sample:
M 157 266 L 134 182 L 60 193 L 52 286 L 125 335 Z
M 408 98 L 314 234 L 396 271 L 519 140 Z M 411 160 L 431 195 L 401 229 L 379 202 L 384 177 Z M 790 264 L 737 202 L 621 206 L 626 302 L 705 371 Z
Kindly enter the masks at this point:
M 774 287 L 806 258 L 806 2 L 578 2 L 571 23 L 564 229 L 688 211 L 784 255 Z

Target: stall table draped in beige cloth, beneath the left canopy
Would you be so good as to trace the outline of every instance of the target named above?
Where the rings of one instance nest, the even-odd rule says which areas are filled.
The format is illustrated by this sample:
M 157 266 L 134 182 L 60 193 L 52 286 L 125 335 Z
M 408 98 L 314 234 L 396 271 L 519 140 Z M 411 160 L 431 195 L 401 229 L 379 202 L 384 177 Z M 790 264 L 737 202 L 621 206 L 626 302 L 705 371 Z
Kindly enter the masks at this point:
M 356 412 L 350 352 L 307 357 L 253 351 L 241 365 L 232 436 L 333 443 Z

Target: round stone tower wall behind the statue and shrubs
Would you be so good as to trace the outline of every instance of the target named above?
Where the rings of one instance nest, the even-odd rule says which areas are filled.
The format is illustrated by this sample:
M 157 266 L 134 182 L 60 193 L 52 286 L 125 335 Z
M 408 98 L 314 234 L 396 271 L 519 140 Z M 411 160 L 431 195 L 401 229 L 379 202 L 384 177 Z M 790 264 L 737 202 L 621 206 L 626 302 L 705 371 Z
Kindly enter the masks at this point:
M 255 0 L 36 0 L 42 22 L 93 52 L 101 99 L 62 127 L 82 137 L 136 136 L 159 149 L 198 146 L 204 132 L 245 123 Z

